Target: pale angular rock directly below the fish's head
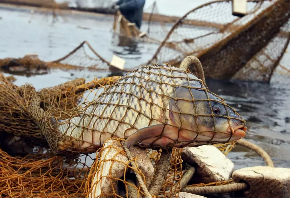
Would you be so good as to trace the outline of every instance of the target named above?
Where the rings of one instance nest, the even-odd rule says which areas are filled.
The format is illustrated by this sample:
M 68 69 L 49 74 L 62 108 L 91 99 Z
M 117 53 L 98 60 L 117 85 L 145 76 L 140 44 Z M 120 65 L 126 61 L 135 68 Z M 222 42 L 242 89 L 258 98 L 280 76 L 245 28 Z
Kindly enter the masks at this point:
M 181 157 L 186 162 L 196 164 L 193 178 L 198 183 L 226 181 L 233 173 L 233 162 L 212 145 L 185 147 Z

